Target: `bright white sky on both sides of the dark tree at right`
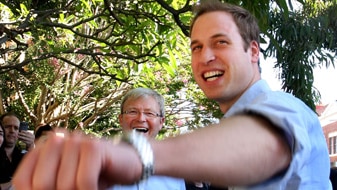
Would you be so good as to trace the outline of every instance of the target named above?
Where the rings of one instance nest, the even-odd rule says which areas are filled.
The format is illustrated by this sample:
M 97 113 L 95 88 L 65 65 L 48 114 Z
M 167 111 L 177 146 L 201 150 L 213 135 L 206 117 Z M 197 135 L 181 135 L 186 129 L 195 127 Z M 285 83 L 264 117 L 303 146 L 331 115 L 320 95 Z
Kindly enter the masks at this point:
M 267 80 L 273 90 L 281 89 L 281 81 L 277 79 L 277 70 L 273 69 L 275 59 L 263 60 L 261 58 L 262 78 Z M 321 93 L 321 102 L 323 105 L 337 100 L 337 69 L 316 68 L 314 70 L 314 86 Z

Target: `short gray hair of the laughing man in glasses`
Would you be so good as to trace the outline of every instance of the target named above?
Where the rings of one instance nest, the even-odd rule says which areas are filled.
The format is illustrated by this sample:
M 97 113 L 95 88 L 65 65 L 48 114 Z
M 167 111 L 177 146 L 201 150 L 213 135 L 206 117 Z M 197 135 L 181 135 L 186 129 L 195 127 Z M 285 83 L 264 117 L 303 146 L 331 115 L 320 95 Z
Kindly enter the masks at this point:
M 136 100 L 138 98 L 142 98 L 142 97 L 147 97 L 150 96 L 152 98 L 154 98 L 156 100 L 156 102 L 159 105 L 160 108 L 160 115 L 162 117 L 165 117 L 165 100 L 164 97 L 159 94 L 158 92 L 149 89 L 149 88 L 135 88 L 130 90 L 129 92 L 127 92 L 124 96 L 124 98 L 122 99 L 122 103 L 121 103 L 121 113 L 123 113 L 123 108 L 124 108 L 124 104 L 127 100 L 131 99 L 131 100 Z

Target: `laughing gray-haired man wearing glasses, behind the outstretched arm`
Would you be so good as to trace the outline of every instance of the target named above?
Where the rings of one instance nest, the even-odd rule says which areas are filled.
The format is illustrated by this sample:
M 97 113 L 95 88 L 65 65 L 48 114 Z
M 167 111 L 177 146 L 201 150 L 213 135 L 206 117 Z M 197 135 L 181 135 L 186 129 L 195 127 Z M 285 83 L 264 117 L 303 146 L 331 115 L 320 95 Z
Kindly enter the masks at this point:
M 156 138 L 165 122 L 165 101 L 162 95 L 148 88 L 130 90 L 121 103 L 118 116 L 123 133 L 135 130 L 147 138 Z M 152 176 L 134 185 L 115 185 L 109 190 L 185 190 L 183 179 Z

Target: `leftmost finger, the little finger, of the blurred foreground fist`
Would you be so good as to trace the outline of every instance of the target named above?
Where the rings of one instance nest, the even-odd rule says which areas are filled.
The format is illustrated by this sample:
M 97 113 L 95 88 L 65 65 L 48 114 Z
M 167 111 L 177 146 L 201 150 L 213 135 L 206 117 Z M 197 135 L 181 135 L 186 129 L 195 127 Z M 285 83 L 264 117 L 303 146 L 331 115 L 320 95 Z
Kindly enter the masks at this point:
M 40 155 L 40 148 L 28 152 L 13 177 L 13 186 L 16 190 L 32 190 L 32 177 Z

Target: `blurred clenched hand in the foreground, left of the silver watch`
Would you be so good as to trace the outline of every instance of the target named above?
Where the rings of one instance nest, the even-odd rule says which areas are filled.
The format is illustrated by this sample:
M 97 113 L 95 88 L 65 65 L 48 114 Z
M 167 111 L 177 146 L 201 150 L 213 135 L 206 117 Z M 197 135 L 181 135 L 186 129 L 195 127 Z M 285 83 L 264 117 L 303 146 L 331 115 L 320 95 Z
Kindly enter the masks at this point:
M 16 190 L 105 189 L 140 177 L 141 162 L 130 145 L 80 133 L 56 134 L 24 157 L 13 178 Z

